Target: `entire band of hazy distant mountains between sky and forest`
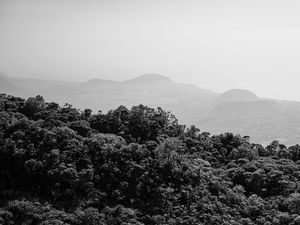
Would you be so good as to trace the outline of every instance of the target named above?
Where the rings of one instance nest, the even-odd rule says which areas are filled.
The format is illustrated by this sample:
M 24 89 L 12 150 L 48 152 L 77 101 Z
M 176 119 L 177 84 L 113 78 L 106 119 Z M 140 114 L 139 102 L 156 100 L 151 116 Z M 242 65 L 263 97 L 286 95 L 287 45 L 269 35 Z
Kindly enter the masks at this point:
M 4 74 L 4 73 L 3 73 Z M 27 98 L 42 95 L 62 105 L 108 111 L 120 105 L 144 104 L 170 110 L 183 124 L 195 124 L 212 134 L 233 132 L 268 144 L 300 142 L 300 103 L 262 99 L 248 90 L 224 93 L 177 83 L 160 74 L 144 74 L 124 81 L 91 79 L 71 82 L 14 78 L 0 75 L 0 93 Z

